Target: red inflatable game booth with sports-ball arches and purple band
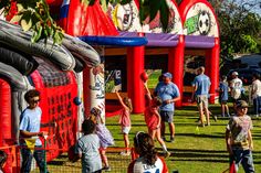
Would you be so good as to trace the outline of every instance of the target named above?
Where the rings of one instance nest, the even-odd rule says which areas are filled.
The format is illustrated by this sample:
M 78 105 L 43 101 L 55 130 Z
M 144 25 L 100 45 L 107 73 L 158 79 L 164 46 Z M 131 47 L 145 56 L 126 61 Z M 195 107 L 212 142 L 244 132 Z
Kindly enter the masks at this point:
M 170 11 L 166 32 L 161 28 L 159 13 L 153 21 L 148 19 L 146 24 L 140 25 L 138 0 L 127 4 L 109 4 L 107 13 L 103 12 L 98 2 L 96 0 L 86 7 L 77 0 L 63 1 L 60 24 L 69 34 L 103 46 L 105 62 L 114 60 L 123 69 L 123 78 L 127 83 L 125 94 L 133 100 L 134 112 L 144 110 L 145 98 L 140 97 L 144 87 L 139 76 L 152 56 L 156 63 L 164 57 L 163 63 L 157 64 L 174 74 L 173 82 L 182 98 L 176 102 L 177 107 L 186 101 L 184 94 L 191 94 L 195 68 L 199 65 L 206 66 L 206 74 L 211 79 L 210 102 L 215 101 L 219 82 L 219 28 L 208 1 L 184 0 L 177 6 L 174 0 L 166 0 Z M 147 43 L 140 39 L 147 40 Z M 90 78 L 90 73 L 85 74 L 84 79 Z M 87 94 L 87 90 L 84 93 Z

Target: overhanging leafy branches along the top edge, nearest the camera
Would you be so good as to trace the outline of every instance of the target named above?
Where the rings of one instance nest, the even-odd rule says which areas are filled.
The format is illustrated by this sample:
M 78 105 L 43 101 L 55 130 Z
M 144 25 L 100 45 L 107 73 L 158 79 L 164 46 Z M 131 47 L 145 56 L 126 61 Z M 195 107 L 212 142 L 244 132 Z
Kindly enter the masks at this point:
M 95 0 L 81 0 L 85 6 L 92 6 Z M 102 8 L 106 11 L 108 2 L 111 3 L 128 3 L 130 0 L 100 0 Z M 18 22 L 24 31 L 32 29 L 34 34 L 32 42 L 38 42 L 41 39 L 52 37 L 54 43 L 61 43 L 63 39 L 63 30 L 56 25 L 51 18 L 49 6 L 45 0 L 0 0 L 0 9 L 4 9 L 8 14 L 11 9 L 11 3 L 15 2 L 18 13 L 12 19 L 12 22 Z M 152 21 L 157 12 L 160 12 L 160 21 L 164 30 L 168 25 L 169 10 L 165 0 L 139 0 L 139 18 L 140 23 Z

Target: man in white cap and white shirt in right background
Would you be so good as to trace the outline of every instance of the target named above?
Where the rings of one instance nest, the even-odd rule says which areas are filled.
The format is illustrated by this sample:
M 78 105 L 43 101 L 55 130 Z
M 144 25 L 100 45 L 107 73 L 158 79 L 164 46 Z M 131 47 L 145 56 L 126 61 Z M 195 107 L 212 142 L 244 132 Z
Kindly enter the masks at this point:
M 233 102 L 233 109 L 236 110 L 236 102 L 241 98 L 241 90 L 243 87 L 242 80 L 238 77 L 238 72 L 232 73 L 232 79 L 230 82 L 231 98 Z

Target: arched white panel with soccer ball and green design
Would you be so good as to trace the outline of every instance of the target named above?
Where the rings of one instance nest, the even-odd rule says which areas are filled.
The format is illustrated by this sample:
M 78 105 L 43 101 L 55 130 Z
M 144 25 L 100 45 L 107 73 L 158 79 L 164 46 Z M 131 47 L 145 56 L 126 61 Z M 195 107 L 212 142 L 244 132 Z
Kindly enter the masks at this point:
M 184 34 L 219 37 L 217 19 L 207 3 L 191 4 L 184 21 Z

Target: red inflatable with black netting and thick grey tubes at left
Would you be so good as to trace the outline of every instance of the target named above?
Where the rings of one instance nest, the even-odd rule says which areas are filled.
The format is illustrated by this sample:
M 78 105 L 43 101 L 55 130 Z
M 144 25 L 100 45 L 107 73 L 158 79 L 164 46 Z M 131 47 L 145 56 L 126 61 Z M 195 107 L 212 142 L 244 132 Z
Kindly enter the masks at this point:
M 62 45 L 51 40 L 31 43 L 32 32 L 0 20 L 0 148 L 9 156 L 6 172 L 19 169 L 11 145 L 19 141 L 19 121 L 27 107 L 23 95 L 35 88 L 41 93 L 41 131 L 46 138 L 46 160 L 51 161 L 75 143 L 83 119 L 81 75 L 94 67 L 100 55 L 88 44 L 65 34 Z M 13 153 L 14 152 L 14 153 Z M 18 158 L 15 158 L 18 156 Z M 19 163 L 20 164 L 20 163 Z

